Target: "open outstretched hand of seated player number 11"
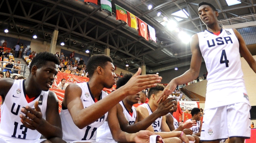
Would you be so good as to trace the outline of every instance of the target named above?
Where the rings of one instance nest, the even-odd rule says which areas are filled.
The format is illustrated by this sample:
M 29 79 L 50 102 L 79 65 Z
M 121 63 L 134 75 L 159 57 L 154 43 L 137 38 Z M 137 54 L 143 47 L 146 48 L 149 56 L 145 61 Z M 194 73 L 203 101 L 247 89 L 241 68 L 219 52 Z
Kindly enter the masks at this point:
M 120 87 L 126 92 L 126 95 L 133 95 L 143 89 L 155 87 L 162 80 L 162 77 L 159 77 L 157 74 L 140 75 L 140 73 L 141 68 L 138 69 L 123 87 Z

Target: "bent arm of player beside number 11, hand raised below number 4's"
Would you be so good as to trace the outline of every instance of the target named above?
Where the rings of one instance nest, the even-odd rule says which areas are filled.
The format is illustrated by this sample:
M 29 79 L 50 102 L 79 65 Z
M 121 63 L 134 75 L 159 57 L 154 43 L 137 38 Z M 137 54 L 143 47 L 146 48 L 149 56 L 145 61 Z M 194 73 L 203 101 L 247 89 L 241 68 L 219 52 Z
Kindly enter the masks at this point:
M 140 130 L 146 130 L 157 118 L 166 115 L 172 107 L 174 107 L 172 101 L 173 98 L 169 98 L 165 101 L 161 101 L 158 104 L 156 111 L 154 111 L 151 115 L 138 122 L 138 116 L 136 117 L 135 124 L 129 125 L 128 121 L 124 117 L 123 111 L 119 112 L 118 109 L 118 120 L 121 126 L 121 129 L 125 132 L 134 133 L 139 132 Z M 120 106 L 121 107 L 121 106 Z M 120 108 L 121 109 L 121 108 Z M 138 115 L 138 112 L 137 112 Z

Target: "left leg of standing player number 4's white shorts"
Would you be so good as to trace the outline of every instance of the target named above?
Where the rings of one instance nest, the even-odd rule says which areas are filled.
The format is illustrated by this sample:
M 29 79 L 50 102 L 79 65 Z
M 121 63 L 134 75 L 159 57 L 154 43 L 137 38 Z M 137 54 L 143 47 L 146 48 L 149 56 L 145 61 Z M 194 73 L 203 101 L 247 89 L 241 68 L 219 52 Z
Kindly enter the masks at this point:
M 222 139 L 228 139 L 227 106 L 205 109 L 200 140 L 219 143 Z

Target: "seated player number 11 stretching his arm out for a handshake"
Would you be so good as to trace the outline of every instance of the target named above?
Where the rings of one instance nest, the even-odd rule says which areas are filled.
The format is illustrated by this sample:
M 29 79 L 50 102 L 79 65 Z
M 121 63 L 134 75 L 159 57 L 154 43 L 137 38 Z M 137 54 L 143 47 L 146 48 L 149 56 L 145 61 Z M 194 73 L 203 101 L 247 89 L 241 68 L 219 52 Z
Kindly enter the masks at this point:
M 104 87 L 111 88 L 115 84 L 116 74 L 114 71 L 115 67 L 109 56 L 94 55 L 87 63 L 90 81 L 70 84 L 66 88 L 60 112 L 64 140 L 95 142 L 97 128 L 105 122 L 108 110 L 126 96 L 156 86 L 156 83 L 161 82 L 162 79 L 158 75 L 140 75 L 141 69 L 139 68 L 129 82 L 107 96 L 102 89 Z M 153 133 L 145 133 L 146 140 L 149 140 L 148 134 Z M 134 142 L 134 137 L 138 134 L 123 135 L 129 139 L 127 142 Z M 140 142 L 146 141 L 140 139 Z

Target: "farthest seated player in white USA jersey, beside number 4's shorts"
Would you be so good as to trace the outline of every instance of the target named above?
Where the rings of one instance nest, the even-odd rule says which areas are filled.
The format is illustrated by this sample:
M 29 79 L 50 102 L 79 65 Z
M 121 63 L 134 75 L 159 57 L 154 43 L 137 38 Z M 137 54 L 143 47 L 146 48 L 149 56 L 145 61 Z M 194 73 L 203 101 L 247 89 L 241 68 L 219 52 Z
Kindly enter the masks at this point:
M 191 110 L 191 115 L 192 115 L 192 118 L 188 119 L 186 122 L 189 122 L 191 120 L 196 120 L 196 126 L 191 127 L 190 130 L 192 130 L 193 135 L 196 135 L 196 136 L 200 137 L 201 136 L 201 129 L 202 129 L 202 122 L 200 120 L 201 119 L 200 109 L 199 108 L 193 108 Z

